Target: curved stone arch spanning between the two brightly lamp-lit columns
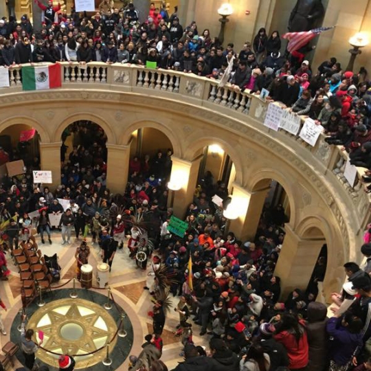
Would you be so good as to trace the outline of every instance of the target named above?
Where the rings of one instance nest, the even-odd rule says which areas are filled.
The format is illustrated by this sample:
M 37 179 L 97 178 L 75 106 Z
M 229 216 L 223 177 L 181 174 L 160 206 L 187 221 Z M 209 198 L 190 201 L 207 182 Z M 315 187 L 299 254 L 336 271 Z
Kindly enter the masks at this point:
M 232 162 L 236 168 L 236 183 L 241 184 L 243 179 L 243 159 L 240 157 L 240 154 L 231 144 L 226 142 L 224 139 L 219 137 L 212 137 L 212 136 L 202 136 L 200 137 L 199 133 L 194 133 L 192 136 L 189 136 L 188 143 L 190 143 L 187 148 L 185 148 L 184 157 L 188 159 L 188 161 L 192 161 L 198 151 L 206 146 L 210 146 L 212 144 L 218 144 L 223 148 L 225 153 L 231 157 Z

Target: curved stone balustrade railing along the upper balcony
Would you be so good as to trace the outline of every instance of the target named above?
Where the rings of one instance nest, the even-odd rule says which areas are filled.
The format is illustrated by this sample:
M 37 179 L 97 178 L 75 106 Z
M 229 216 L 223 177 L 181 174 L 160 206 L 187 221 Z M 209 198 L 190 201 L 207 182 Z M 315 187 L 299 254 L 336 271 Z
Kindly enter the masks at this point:
M 260 100 L 258 95 L 248 92 L 236 92 L 230 87 L 218 86 L 218 81 L 184 74 L 179 71 L 166 69 L 147 69 L 144 66 L 122 65 L 115 63 L 91 62 L 86 65 L 79 63 L 60 63 L 62 65 L 61 78 L 63 88 L 89 89 L 89 85 L 106 85 L 107 89 L 114 91 L 125 91 L 143 93 L 145 95 L 161 95 L 174 99 L 176 95 L 184 102 L 190 102 L 207 109 L 218 110 L 219 112 L 244 122 L 246 117 L 251 118 L 249 124 L 265 120 L 267 113 L 267 102 Z M 10 87 L 0 88 L 2 93 L 21 91 L 21 66 L 12 67 L 10 71 Z M 177 98 L 177 99 L 179 99 Z M 304 122 L 304 120 L 302 120 Z M 234 126 L 231 126 L 234 129 Z M 238 130 L 236 126 L 236 130 Z M 269 131 L 268 128 L 266 128 Z M 288 146 L 295 141 L 302 150 L 310 151 L 317 159 L 317 168 L 326 177 L 335 177 L 348 192 L 354 207 L 359 214 L 359 227 L 363 228 L 370 218 L 370 198 L 363 190 L 361 175 L 364 169 L 358 169 L 358 179 L 354 186 L 350 186 L 344 177 L 344 168 L 348 155 L 341 150 L 340 146 L 330 146 L 325 141 L 325 135 L 321 135 L 315 146 L 306 144 L 298 135 L 292 135 L 287 131 L 279 130 L 274 134 L 277 139 L 286 142 Z

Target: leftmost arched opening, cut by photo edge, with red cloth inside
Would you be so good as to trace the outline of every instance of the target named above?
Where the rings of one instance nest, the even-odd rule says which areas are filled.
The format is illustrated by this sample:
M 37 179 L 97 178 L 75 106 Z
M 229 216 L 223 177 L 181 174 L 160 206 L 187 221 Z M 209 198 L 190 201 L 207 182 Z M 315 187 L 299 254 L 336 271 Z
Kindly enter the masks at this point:
M 0 163 L 23 160 L 27 170 L 40 168 L 39 135 L 27 124 L 12 124 L 0 133 Z M 5 155 L 6 153 L 7 155 Z

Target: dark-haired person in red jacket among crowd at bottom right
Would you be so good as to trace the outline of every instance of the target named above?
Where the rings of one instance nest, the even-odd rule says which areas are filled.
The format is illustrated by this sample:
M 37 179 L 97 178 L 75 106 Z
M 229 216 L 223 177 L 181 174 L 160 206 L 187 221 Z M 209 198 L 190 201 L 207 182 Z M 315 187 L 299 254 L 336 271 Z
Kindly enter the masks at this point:
M 276 325 L 274 339 L 281 343 L 289 356 L 290 370 L 305 370 L 308 365 L 309 346 L 304 320 L 295 314 L 284 313 L 282 320 Z

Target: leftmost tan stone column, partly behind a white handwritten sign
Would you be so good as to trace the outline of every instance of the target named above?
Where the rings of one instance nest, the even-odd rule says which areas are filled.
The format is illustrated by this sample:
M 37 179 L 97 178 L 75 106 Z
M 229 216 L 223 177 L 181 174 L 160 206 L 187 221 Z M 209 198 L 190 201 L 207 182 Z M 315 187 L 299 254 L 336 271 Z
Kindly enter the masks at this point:
M 41 170 L 52 171 L 52 184 L 47 184 L 54 190 L 60 185 L 60 145 L 61 142 L 40 143 Z

